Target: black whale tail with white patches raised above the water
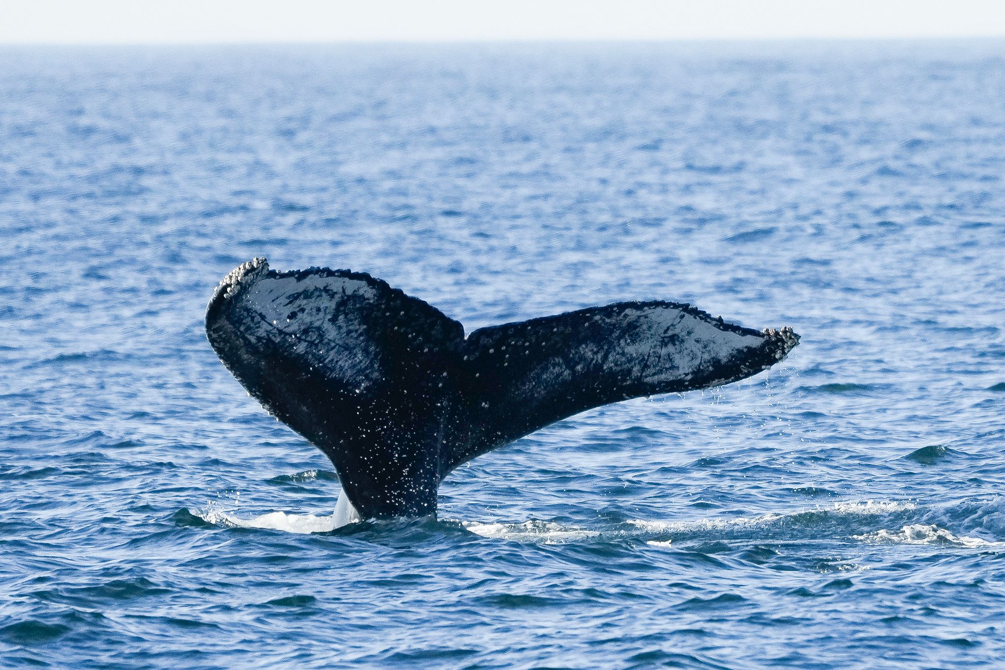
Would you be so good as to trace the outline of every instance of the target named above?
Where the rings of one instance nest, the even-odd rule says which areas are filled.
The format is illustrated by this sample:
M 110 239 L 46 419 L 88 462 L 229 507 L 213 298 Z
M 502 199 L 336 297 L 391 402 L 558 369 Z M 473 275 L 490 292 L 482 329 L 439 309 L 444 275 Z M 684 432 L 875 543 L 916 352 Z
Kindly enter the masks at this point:
M 750 377 L 799 342 L 662 300 L 465 337 L 369 274 L 276 272 L 264 258 L 220 282 L 206 334 L 266 410 L 328 455 L 363 518 L 434 513 L 443 477 L 479 454 L 593 407 Z

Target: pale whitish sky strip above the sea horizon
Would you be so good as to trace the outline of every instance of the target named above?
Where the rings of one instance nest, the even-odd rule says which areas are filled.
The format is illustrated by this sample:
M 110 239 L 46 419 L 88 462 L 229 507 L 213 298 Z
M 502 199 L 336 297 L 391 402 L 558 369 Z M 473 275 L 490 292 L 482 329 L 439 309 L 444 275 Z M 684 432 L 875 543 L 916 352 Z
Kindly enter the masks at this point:
M 1005 36 L 1003 0 L 0 0 L 0 43 Z

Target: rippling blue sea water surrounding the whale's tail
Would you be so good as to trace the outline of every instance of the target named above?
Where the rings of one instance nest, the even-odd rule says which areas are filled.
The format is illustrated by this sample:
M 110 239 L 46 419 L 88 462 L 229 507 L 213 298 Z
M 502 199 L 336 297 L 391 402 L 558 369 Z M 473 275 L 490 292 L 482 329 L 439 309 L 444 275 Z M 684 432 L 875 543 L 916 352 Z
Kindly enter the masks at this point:
M 1005 663 L 1002 100 L 1001 41 L 0 51 L 0 665 Z M 333 530 L 203 333 L 256 255 L 802 344 Z

